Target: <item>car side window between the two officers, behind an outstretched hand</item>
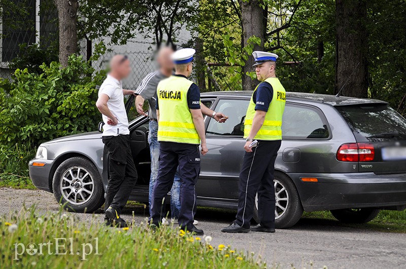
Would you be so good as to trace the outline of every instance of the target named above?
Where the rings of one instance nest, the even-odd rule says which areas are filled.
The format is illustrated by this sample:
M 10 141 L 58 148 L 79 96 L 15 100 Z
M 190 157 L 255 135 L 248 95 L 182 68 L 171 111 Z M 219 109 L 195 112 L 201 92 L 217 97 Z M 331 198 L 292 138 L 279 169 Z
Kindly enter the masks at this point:
M 216 105 L 216 112 L 228 117 L 225 123 L 218 123 L 210 119 L 207 127 L 208 135 L 244 136 L 244 119 L 249 100 L 220 99 Z

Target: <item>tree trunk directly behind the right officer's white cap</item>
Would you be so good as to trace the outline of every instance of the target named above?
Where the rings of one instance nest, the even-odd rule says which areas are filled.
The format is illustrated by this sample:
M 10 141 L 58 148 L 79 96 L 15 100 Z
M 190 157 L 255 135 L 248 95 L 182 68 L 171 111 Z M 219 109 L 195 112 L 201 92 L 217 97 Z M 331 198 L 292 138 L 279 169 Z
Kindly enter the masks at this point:
M 247 46 L 248 39 L 255 35 L 261 39 L 261 45 L 255 45 L 254 51 L 263 50 L 264 33 L 266 32 L 266 24 L 264 23 L 264 10 L 259 6 L 258 0 L 242 1 L 241 6 L 241 21 L 243 26 L 243 47 Z M 252 91 L 258 84 L 257 80 L 252 80 L 247 72 L 254 71 L 252 65 L 254 64 L 254 57 L 248 55 L 248 60 L 245 61 L 243 66 L 243 90 Z

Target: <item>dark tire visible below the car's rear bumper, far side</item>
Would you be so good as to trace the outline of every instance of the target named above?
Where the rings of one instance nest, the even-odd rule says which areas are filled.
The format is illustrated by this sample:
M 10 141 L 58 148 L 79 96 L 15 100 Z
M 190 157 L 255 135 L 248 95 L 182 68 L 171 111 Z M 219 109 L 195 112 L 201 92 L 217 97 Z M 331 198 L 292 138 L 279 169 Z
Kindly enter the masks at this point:
M 344 223 L 366 223 L 373 220 L 378 214 L 376 208 L 347 208 L 330 210 L 331 214 Z

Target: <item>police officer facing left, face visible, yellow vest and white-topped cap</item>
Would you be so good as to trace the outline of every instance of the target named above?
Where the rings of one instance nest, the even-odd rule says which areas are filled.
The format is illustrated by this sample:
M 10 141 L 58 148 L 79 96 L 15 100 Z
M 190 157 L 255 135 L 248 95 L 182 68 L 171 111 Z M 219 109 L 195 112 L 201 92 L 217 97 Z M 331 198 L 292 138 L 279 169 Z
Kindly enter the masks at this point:
M 224 233 L 275 232 L 275 159 L 282 140 L 285 89 L 276 78 L 278 55 L 255 51 L 255 72 L 261 83 L 255 88 L 244 123 L 245 155 L 240 173 L 236 219 Z M 258 193 L 260 223 L 250 226 Z

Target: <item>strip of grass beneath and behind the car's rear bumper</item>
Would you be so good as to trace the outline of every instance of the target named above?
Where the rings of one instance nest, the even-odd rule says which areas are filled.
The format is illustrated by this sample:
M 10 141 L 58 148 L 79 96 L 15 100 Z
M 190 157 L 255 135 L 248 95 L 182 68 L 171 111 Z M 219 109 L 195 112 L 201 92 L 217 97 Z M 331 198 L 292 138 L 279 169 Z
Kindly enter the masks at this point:
M 406 211 L 381 210 L 378 216 L 368 223 L 351 224 L 335 221 L 330 211 L 304 212 L 302 218 L 334 220 L 333 225 L 365 228 L 389 233 L 406 233 Z

